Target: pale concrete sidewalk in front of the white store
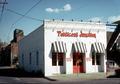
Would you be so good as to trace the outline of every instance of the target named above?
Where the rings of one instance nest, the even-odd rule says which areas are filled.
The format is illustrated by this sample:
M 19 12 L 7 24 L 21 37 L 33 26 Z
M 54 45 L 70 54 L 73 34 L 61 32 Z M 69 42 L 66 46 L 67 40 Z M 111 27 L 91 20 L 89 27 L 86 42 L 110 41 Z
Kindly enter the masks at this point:
M 49 78 L 60 81 L 105 79 L 106 73 L 56 74 L 54 76 L 50 76 Z

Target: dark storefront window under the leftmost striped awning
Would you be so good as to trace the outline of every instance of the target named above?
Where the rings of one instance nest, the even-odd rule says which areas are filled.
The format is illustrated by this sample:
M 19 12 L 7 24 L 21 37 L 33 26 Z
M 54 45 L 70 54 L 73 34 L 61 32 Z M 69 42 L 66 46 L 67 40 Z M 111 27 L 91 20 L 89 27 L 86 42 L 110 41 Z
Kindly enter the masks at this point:
M 52 66 L 63 66 L 64 53 L 52 53 Z

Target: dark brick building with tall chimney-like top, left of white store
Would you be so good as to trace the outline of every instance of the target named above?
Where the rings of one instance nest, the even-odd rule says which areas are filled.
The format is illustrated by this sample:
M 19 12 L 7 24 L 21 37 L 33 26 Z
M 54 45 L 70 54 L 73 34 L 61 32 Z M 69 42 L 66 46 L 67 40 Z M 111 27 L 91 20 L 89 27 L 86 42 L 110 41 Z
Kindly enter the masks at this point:
M 13 40 L 9 45 L 3 46 L 0 49 L 1 66 L 11 66 L 18 62 L 18 42 L 24 36 L 23 31 L 14 30 Z

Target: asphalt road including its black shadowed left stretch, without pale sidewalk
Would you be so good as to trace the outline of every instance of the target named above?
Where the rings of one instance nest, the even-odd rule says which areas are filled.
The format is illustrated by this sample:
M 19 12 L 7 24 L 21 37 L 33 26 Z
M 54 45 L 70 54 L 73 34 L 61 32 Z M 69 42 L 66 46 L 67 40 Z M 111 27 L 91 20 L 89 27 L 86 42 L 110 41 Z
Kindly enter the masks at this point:
M 60 80 L 56 78 L 36 76 L 34 74 L 26 73 L 11 67 L 0 67 L 0 84 L 3 83 L 39 83 L 39 84 L 120 84 L 120 78 L 111 76 L 104 79 L 69 79 Z

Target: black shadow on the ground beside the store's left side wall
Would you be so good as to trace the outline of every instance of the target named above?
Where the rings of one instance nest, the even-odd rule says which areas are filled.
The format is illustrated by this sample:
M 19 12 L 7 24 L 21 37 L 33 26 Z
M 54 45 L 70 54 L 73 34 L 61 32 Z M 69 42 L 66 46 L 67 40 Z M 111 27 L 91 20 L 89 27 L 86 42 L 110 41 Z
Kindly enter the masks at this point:
M 26 72 L 17 68 L 0 68 L 0 76 L 4 77 L 26 77 L 26 78 L 44 78 L 49 81 L 57 81 L 56 79 L 51 79 L 49 77 L 44 77 L 43 74 L 35 72 Z

